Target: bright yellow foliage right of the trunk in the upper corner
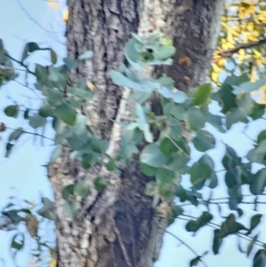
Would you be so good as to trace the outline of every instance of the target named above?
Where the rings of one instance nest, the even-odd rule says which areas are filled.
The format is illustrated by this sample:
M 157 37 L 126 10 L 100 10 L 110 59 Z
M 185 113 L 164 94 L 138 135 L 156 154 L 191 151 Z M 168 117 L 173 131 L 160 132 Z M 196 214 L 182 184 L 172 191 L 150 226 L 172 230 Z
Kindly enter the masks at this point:
M 213 54 L 212 81 L 218 85 L 222 72 L 228 75 L 235 71 L 245 72 L 249 74 L 252 82 L 265 76 L 265 45 L 248 47 L 249 43 L 266 39 L 265 0 L 226 0 L 221 24 L 222 34 Z M 266 103 L 266 85 L 253 94 L 257 94 L 256 99 L 259 99 L 259 102 Z

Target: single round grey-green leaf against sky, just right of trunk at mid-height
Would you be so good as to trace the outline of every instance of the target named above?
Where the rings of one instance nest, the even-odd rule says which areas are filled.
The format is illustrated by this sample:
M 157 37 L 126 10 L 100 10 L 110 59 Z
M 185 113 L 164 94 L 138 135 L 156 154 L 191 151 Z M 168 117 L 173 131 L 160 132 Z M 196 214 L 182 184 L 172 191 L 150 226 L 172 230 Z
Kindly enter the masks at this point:
M 193 140 L 193 144 L 194 144 L 195 148 L 201 152 L 205 152 L 205 151 L 214 148 L 215 143 L 216 142 L 215 142 L 214 136 L 205 130 L 200 130 L 197 132 L 195 138 Z

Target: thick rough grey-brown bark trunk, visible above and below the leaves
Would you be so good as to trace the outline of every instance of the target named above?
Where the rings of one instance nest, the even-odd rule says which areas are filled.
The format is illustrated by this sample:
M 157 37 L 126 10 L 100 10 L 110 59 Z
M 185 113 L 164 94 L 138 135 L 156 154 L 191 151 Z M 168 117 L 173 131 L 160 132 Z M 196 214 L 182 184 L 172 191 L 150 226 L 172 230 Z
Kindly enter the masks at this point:
M 68 53 L 94 52 L 75 74 L 93 79 L 96 95 L 84 106 L 88 123 L 101 125 L 99 135 L 113 142 L 112 120 L 123 116 L 122 91 L 108 72 L 124 61 L 131 32 L 145 34 L 154 27 L 173 38 L 174 65 L 163 71 L 186 91 L 204 82 L 211 64 L 223 11 L 221 0 L 69 0 Z M 187 57 L 190 60 L 187 60 Z M 185 60 L 185 61 L 184 61 Z M 156 70 L 154 73 L 156 73 Z M 75 75 L 74 74 L 74 75 Z M 122 113 L 122 114 L 121 114 Z M 152 199 L 144 195 L 149 181 L 137 168 L 137 156 L 102 194 L 82 199 L 82 210 L 68 219 L 62 187 L 80 179 L 92 183 L 102 172 L 89 172 L 69 160 L 69 151 L 49 167 L 57 205 L 59 267 L 151 267 L 157 259 L 166 224 L 153 220 Z M 106 173 L 109 176 L 111 174 Z

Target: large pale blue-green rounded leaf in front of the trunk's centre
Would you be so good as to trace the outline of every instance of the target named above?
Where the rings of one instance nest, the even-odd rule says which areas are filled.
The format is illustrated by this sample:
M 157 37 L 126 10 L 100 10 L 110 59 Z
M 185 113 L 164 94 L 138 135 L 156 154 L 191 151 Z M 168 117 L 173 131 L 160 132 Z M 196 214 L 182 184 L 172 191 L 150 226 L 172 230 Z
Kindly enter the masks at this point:
M 141 163 L 153 167 L 162 167 L 168 162 L 168 158 L 160 151 L 156 144 L 147 145 L 141 153 Z

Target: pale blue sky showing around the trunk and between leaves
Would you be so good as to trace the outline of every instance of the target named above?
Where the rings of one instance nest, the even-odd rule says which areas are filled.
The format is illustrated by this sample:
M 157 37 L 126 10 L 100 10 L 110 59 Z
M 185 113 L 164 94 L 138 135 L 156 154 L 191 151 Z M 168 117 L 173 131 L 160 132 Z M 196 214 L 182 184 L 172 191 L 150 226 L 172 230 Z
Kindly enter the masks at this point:
M 47 1 L 43 0 L 23 0 L 20 1 L 23 4 L 24 10 L 19 4 L 19 0 L 0 0 L 0 38 L 3 40 L 6 48 L 13 58 L 20 59 L 23 45 L 25 42 L 34 41 L 42 43 L 43 47 L 51 47 L 59 55 L 65 55 L 65 41 L 63 38 L 63 24 L 60 21 L 59 13 L 54 13 Z M 57 31 L 59 33 L 49 34 L 49 31 Z M 31 57 L 32 62 L 43 63 L 47 61 L 47 54 L 37 54 Z M 20 80 L 23 82 L 22 78 Z M 32 81 L 31 81 L 32 83 Z M 30 97 L 30 99 L 29 99 Z M 4 106 L 13 103 L 12 101 L 27 102 L 31 106 L 39 106 L 41 103 L 41 95 L 35 94 L 27 90 L 24 86 L 14 82 L 0 89 L 0 122 L 4 122 L 9 127 L 17 129 L 20 125 L 24 125 L 23 119 L 17 120 L 7 117 L 2 110 Z M 217 105 L 212 105 L 212 112 L 218 111 Z M 250 125 L 246 130 L 246 134 L 250 137 L 257 136 L 257 133 L 266 129 L 265 121 L 258 121 Z M 211 129 L 217 140 L 233 146 L 239 155 L 245 155 L 248 150 L 252 148 L 252 141 L 244 135 L 243 124 L 233 126 L 228 134 L 222 135 L 215 130 Z M 18 202 L 22 199 L 32 201 L 34 203 L 40 202 L 40 196 L 47 196 L 52 198 L 51 186 L 47 178 L 45 164 L 49 160 L 50 153 L 53 148 L 51 143 L 45 142 L 42 146 L 40 141 L 32 142 L 31 136 L 23 136 L 14 148 L 9 158 L 3 157 L 4 144 L 11 131 L 8 131 L 0 135 L 0 210 L 7 205 L 8 197 L 16 196 Z M 47 130 L 45 135 L 52 135 L 51 130 Z M 221 170 L 219 160 L 224 152 L 224 145 L 222 141 L 218 141 L 216 148 L 209 151 L 209 155 L 216 158 L 215 168 Z M 202 154 L 193 151 L 193 160 L 196 161 Z M 218 174 L 221 181 L 219 189 L 215 193 L 215 197 L 226 196 L 225 187 L 223 186 L 223 173 Z M 188 185 L 187 177 L 183 178 L 183 184 Z M 204 195 L 207 197 L 209 189 L 204 189 Z M 253 198 L 249 198 L 253 199 Z M 246 209 L 245 206 L 242 206 Z M 248 207 L 249 209 L 250 207 Z M 252 209 L 252 208 L 250 208 Z M 187 213 L 193 216 L 198 216 L 203 208 L 192 207 L 187 209 Z M 263 210 L 263 209 L 260 209 Z M 217 210 L 212 209 L 217 215 Z M 224 205 L 223 215 L 227 215 L 229 210 Z M 252 212 L 247 212 L 239 222 L 248 226 L 248 218 L 253 215 Z M 201 229 L 195 237 L 186 233 L 184 225 L 186 222 L 176 219 L 176 222 L 168 227 L 168 232 L 176 235 L 178 238 L 186 242 L 198 255 L 204 254 L 206 250 L 211 250 L 212 245 L 212 229 Z M 221 223 L 221 222 L 217 222 Z M 266 226 L 265 220 L 260 225 L 260 229 Z M 22 227 L 22 226 L 21 226 Z M 12 259 L 10 257 L 9 244 L 14 232 L 0 230 L 0 259 L 6 260 L 6 266 L 13 267 Z M 50 233 L 52 235 L 52 233 Z M 259 235 L 260 240 L 266 240 L 266 233 Z M 246 247 L 247 243 L 242 242 Z M 20 255 L 20 266 L 28 266 L 29 263 L 30 245 Z M 177 267 L 188 266 L 188 260 L 195 257 L 185 246 L 180 246 L 180 243 L 170 234 L 164 235 L 164 243 L 160 254 L 158 260 L 155 263 L 155 267 Z M 250 258 L 238 253 L 236 247 L 236 237 L 227 238 L 224 243 L 221 255 L 214 256 L 212 251 L 204 257 L 208 267 L 249 267 Z M 0 260 L 1 266 L 1 260 Z

